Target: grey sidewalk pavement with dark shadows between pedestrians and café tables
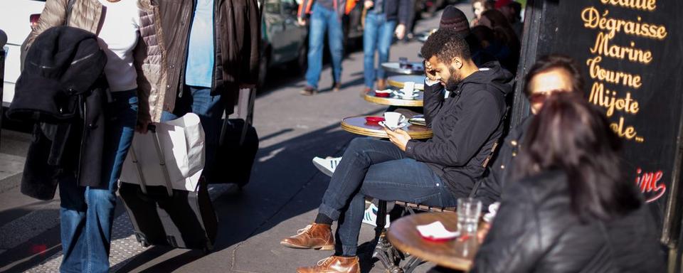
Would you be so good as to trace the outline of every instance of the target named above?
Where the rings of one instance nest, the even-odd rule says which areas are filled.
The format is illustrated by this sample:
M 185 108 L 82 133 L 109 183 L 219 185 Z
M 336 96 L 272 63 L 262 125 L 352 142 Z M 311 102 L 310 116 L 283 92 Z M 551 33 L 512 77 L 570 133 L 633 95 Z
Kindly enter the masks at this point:
M 471 13 L 469 5 L 460 6 Z M 415 31 L 438 26 L 439 17 L 420 21 Z M 391 60 L 418 60 L 420 46 L 417 41 L 396 43 L 391 48 Z M 241 192 L 225 185 L 210 188 L 219 220 L 213 252 L 205 255 L 168 247 L 142 248 L 119 203 L 110 258 L 112 272 L 295 272 L 297 267 L 313 265 L 332 255 L 331 251 L 282 247 L 280 240 L 312 222 L 329 183 L 329 177 L 319 173 L 311 159 L 340 156 L 356 137 L 339 128 L 341 119 L 381 114 L 386 109 L 361 98 L 362 59 L 362 52 L 344 59 L 341 92 L 331 91 L 329 66 L 322 73 L 319 95 L 299 95 L 305 85 L 302 77 L 275 80 L 270 85 L 277 87 L 260 92 L 254 117 L 260 149 L 250 184 Z M 10 223 L 0 222 L 0 261 L 4 261 L 0 262 L 0 272 L 56 272 L 61 255 L 58 200 L 40 202 L 19 196 L 18 188 L 0 191 L 0 216 L 24 214 Z M 363 225 L 359 243 L 372 240 L 373 228 Z M 366 247 L 361 251 L 371 254 Z M 371 262 L 364 259 L 362 264 L 363 272 L 383 272 L 379 262 L 371 267 Z M 425 272 L 432 266 L 423 264 L 415 272 Z

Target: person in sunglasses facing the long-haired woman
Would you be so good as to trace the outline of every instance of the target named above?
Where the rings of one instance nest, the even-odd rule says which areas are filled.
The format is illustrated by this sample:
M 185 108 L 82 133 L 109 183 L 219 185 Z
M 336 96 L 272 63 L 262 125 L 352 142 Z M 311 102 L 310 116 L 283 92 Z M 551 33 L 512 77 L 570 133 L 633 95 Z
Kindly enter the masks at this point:
M 539 112 L 546 97 L 555 92 L 582 92 L 583 80 L 578 65 L 571 58 L 562 55 L 547 55 L 540 58 L 524 77 L 524 93 L 529 98 L 531 114 Z M 475 189 L 475 196 L 482 200 L 484 208 L 500 200 L 502 189 L 509 178 L 515 157 L 522 146 L 526 129 L 534 115 L 523 119 L 514 127 L 502 143 L 496 160 L 489 168 L 488 175 Z

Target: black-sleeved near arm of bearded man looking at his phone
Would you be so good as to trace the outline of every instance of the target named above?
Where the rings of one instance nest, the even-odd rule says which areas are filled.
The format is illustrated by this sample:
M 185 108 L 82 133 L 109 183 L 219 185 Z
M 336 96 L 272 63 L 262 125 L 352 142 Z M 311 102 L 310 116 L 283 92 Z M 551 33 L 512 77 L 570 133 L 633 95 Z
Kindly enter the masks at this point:
M 408 141 L 406 156 L 441 166 L 467 164 L 489 139 L 502 118 L 494 95 L 486 90 L 473 92 L 467 100 L 461 99 L 452 106 L 462 107 L 457 117 L 456 109 L 444 109 L 440 112 L 445 115 L 440 117 L 445 119 L 443 126 L 432 129 L 443 129 L 447 132 L 440 132 L 441 137 L 433 137 L 425 142 Z

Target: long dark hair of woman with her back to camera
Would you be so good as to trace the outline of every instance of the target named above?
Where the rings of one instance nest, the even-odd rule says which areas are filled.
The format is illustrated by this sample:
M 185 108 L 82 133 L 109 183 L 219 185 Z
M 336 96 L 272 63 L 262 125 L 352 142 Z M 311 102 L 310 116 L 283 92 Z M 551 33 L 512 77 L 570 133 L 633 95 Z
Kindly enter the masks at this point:
M 529 125 L 515 178 L 566 173 L 573 212 L 610 220 L 640 207 L 634 183 L 620 175 L 620 139 L 604 114 L 578 92 L 555 92 Z

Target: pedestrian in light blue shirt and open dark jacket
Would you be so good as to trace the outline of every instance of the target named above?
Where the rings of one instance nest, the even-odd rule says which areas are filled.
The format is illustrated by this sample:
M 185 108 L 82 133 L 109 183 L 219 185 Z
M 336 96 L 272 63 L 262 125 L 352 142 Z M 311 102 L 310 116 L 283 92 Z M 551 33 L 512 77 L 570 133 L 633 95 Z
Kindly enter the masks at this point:
M 258 3 L 159 1 L 159 9 L 168 80 L 164 107 L 154 112 L 153 121 L 176 119 L 189 112 L 197 114 L 206 141 L 202 173 L 213 177 L 223 114 L 233 112 L 240 88 L 253 88 L 258 81 Z

